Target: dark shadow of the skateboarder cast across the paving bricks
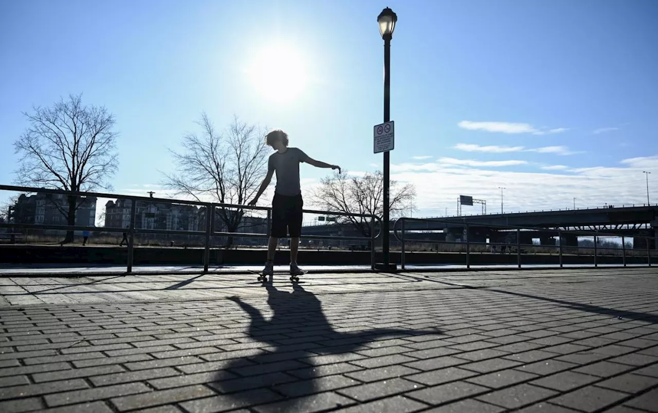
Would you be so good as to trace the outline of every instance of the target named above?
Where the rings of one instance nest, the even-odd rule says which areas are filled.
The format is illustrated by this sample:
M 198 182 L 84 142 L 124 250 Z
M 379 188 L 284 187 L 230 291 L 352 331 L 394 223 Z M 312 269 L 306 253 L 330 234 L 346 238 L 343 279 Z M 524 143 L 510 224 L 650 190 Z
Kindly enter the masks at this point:
M 334 331 L 324 316 L 320 300 L 313 293 L 305 291 L 301 285 L 293 284 L 292 292 L 280 291 L 273 285 L 266 285 L 266 289 L 267 303 L 274 313 L 270 320 L 266 320 L 261 311 L 251 304 L 245 303 L 238 297 L 230 297 L 251 317 L 249 336 L 263 343 L 263 347 L 268 347 L 268 351 L 255 356 L 234 359 L 216 373 L 213 387 L 231 397 L 236 407 L 258 402 L 253 399 L 255 393 L 251 391 L 236 393 L 245 389 L 246 381 L 251 388 L 258 386 L 274 389 L 277 385 L 293 382 L 287 387 L 284 386 L 286 391 L 280 391 L 284 397 L 282 400 L 278 395 L 272 395 L 278 401 L 276 406 L 272 406 L 272 410 L 297 411 L 303 404 L 313 402 L 312 398 L 303 398 L 303 396 L 318 392 L 318 372 L 313 362 L 314 357 L 338 356 L 358 351 L 360 348 L 366 349 L 363 347 L 365 344 L 384 337 L 438 335 L 441 332 L 437 328 L 424 330 L 377 328 L 342 333 Z M 289 338 L 283 339 L 282 334 Z M 335 362 L 340 362 L 339 359 L 340 356 Z M 325 360 L 323 364 L 327 364 L 327 361 Z M 288 363 L 288 366 L 276 362 Z M 296 377 L 284 374 L 284 370 L 297 370 Z M 236 376 L 242 376 L 244 379 L 236 379 Z

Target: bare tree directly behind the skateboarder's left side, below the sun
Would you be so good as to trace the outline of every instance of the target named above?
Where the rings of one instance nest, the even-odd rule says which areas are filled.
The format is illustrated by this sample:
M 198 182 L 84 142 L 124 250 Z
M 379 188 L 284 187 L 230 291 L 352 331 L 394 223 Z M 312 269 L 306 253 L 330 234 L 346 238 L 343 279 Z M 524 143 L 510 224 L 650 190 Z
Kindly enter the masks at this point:
M 165 176 L 164 187 L 199 202 L 245 205 L 267 172 L 263 134 L 237 116 L 224 133 L 217 132 L 205 113 L 196 123 L 201 132 L 185 135 L 180 153 L 170 151 L 176 173 Z M 226 231 L 237 232 L 243 226 L 241 208 L 216 208 L 215 212 Z M 228 237 L 227 247 L 232 242 L 232 237 Z

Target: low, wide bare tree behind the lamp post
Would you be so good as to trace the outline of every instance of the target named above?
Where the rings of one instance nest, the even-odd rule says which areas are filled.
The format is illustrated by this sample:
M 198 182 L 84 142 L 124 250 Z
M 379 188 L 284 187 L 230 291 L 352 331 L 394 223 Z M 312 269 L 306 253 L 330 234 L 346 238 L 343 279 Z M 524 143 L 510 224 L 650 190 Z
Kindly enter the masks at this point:
M 347 214 L 370 214 L 382 216 L 384 211 L 384 174 L 376 171 L 363 176 L 350 176 L 346 171 L 333 174 L 320 180 L 311 196 L 311 201 L 319 208 Z M 416 197 L 416 187 L 407 183 L 399 185 L 390 182 L 390 216 L 401 216 L 409 210 Z M 352 224 L 364 237 L 370 237 L 370 218 L 340 216 L 337 222 Z

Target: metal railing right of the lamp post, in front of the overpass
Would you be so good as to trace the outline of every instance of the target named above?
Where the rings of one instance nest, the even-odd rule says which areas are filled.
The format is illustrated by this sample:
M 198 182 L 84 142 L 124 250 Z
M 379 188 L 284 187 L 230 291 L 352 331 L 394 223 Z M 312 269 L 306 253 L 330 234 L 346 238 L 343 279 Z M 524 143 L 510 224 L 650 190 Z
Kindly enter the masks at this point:
M 418 231 L 418 230 L 405 230 L 405 222 L 436 222 L 436 223 L 441 223 L 441 224 L 451 224 L 453 226 L 463 226 L 463 233 L 466 234 L 465 240 L 464 241 L 442 241 L 438 239 L 410 239 L 409 237 L 405 237 L 405 232 L 407 231 Z M 472 228 L 490 228 L 492 230 L 505 230 L 507 232 L 503 232 L 503 234 L 509 234 L 513 233 L 515 234 L 515 243 L 507 243 L 507 242 L 500 242 L 500 241 L 490 241 L 490 242 L 482 242 L 482 241 L 471 241 L 470 240 L 470 229 Z M 559 239 L 559 245 L 536 245 L 536 244 L 527 244 L 527 243 L 521 243 L 521 238 L 522 234 L 524 236 L 528 235 L 528 232 L 536 232 L 536 233 L 554 233 Z M 626 267 L 627 263 L 626 261 L 630 256 L 637 256 L 637 255 L 629 255 L 626 251 L 626 238 L 631 237 L 631 238 L 638 238 L 638 239 L 644 239 L 646 251 L 645 251 L 645 258 L 646 258 L 646 264 L 647 266 L 651 266 L 651 256 L 652 256 L 652 249 L 651 249 L 651 241 L 653 241 L 653 251 L 657 248 L 657 243 L 658 243 L 658 237 L 650 237 L 646 235 L 619 235 L 615 233 L 603 233 L 600 231 L 572 231 L 572 230 L 558 230 L 555 228 L 537 228 L 537 227 L 518 227 L 518 226 L 497 226 L 497 225 L 489 225 L 489 224 L 482 224 L 482 223 L 477 223 L 477 222 L 461 222 L 461 223 L 456 223 L 454 221 L 449 221 L 449 220 L 438 220 L 438 219 L 432 219 L 432 218 L 399 218 L 395 222 L 395 225 L 393 226 L 393 234 L 395 235 L 395 239 L 399 241 L 401 244 L 401 251 L 400 251 L 400 264 L 401 268 L 404 270 L 405 269 L 405 255 L 407 254 L 406 247 L 407 243 L 427 243 L 427 244 L 435 244 L 435 245 L 440 245 L 440 244 L 447 244 L 447 245 L 459 245 L 465 249 L 466 253 L 466 268 L 470 268 L 471 266 L 471 256 L 472 256 L 472 247 L 474 246 L 485 246 L 485 247 L 491 247 L 491 246 L 497 246 L 501 247 L 516 247 L 517 250 L 517 267 L 521 268 L 522 267 L 522 260 L 521 260 L 521 253 L 522 249 L 526 248 L 534 248 L 534 249 L 553 249 L 557 250 L 557 255 L 559 259 L 559 267 L 563 268 L 564 267 L 564 250 L 567 249 L 569 250 L 594 250 L 594 259 L 593 259 L 593 264 L 595 267 L 599 266 L 598 262 L 598 256 L 599 256 L 599 250 L 613 250 L 611 247 L 604 247 L 598 245 L 598 242 L 601 238 L 603 237 L 612 237 L 612 238 L 621 238 L 621 245 L 619 248 L 615 250 L 621 250 L 622 253 L 622 264 L 621 266 Z M 563 239 L 565 237 L 576 237 L 576 245 L 563 245 Z M 578 237 L 592 237 L 594 241 L 593 246 L 581 246 L 577 245 L 578 243 Z M 634 251 L 638 251 L 638 249 L 634 249 Z M 438 251 L 437 251 L 438 252 Z M 655 253 L 658 253 L 658 251 L 655 251 Z M 436 264 L 443 264 L 443 263 L 436 263 Z

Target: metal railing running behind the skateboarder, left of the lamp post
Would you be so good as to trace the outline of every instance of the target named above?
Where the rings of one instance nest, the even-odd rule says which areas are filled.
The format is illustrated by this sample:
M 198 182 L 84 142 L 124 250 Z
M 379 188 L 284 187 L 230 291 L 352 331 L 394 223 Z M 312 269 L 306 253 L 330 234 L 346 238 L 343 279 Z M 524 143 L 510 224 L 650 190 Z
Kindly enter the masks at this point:
M 128 228 L 108 228 L 103 227 L 102 231 L 105 232 L 116 232 L 116 233 L 127 233 L 128 234 L 128 259 L 126 262 L 126 272 L 132 272 L 133 260 L 134 260 L 134 235 L 136 233 L 145 233 L 145 234 L 176 234 L 176 235 L 201 235 L 204 239 L 204 253 L 203 253 L 203 272 L 208 272 L 209 262 L 210 262 L 210 249 L 211 249 L 211 238 L 212 237 L 253 237 L 253 238 L 268 238 L 267 233 L 245 233 L 245 232 L 227 232 L 227 231 L 216 231 L 215 230 L 215 210 L 216 208 L 225 208 L 232 210 L 255 210 L 255 211 L 266 211 L 266 225 L 269 232 L 272 223 L 272 208 L 271 207 L 251 207 L 249 205 L 236 205 L 236 204 L 223 204 L 223 203 L 204 203 L 199 201 L 188 201 L 185 199 L 171 199 L 171 198 L 156 198 L 156 197 L 138 197 L 134 195 L 121 195 L 116 193 L 99 193 L 99 192 L 74 192 L 74 191 L 64 191 L 61 189 L 45 189 L 45 188 L 36 188 L 36 187 L 22 187 L 14 185 L 0 185 L 0 191 L 15 191 L 21 193 L 43 193 L 43 194 L 53 194 L 53 195 L 65 195 L 66 197 L 95 197 L 95 198 L 109 198 L 109 199 L 126 199 L 131 201 L 130 206 L 130 225 Z M 148 229 L 148 228 L 136 228 L 136 208 L 137 203 L 166 203 L 166 204 L 178 204 L 178 205 L 193 205 L 199 207 L 205 207 L 205 223 L 203 231 L 191 231 L 191 230 L 161 230 L 161 229 Z M 375 264 L 375 240 L 378 239 L 381 235 L 380 233 L 375 234 L 375 225 L 376 223 L 381 223 L 381 218 L 372 214 L 348 214 L 345 212 L 334 212 L 326 210 L 312 210 L 304 209 L 303 212 L 309 214 L 330 214 L 332 216 L 353 216 L 358 218 L 370 219 L 370 237 L 344 237 L 338 235 L 301 235 L 301 239 L 328 239 L 328 240 L 340 240 L 340 241 L 367 241 L 370 244 L 370 268 L 374 270 Z M 4 222 L 0 223 L 0 228 L 12 228 L 12 229 L 28 229 L 28 230 L 60 230 L 60 231 L 98 231 L 101 230 L 99 227 L 95 226 L 69 226 L 69 225 L 53 225 L 53 224 L 22 224 L 22 223 L 10 223 Z M 381 226 L 380 226 L 381 228 Z

